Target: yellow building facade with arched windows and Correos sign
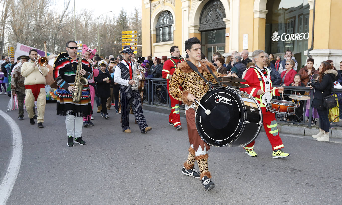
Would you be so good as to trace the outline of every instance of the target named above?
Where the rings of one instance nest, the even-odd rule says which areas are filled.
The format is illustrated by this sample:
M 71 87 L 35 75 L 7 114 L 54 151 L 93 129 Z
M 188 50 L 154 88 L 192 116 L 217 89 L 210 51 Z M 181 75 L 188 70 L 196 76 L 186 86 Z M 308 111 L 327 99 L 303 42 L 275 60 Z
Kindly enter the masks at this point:
M 283 57 L 290 49 L 305 65 L 309 50 L 315 67 L 327 59 L 337 66 L 341 8 L 341 0 L 142 0 L 142 55 L 170 57 L 177 45 L 185 56 L 184 42 L 197 37 L 209 59 L 257 49 Z

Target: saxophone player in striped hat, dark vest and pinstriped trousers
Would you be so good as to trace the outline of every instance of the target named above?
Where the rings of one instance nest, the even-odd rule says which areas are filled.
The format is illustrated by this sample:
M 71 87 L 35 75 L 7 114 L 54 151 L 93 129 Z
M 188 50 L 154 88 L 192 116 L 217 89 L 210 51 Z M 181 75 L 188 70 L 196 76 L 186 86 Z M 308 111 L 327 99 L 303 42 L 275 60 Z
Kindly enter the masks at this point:
M 132 79 L 133 69 L 135 67 L 135 64 L 131 61 L 133 52 L 131 46 L 125 45 L 123 47 L 123 51 L 121 51 L 123 60 L 115 67 L 114 73 L 114 81 L 120 84 L 122 132 L 131 133 L 129 127 L 129 112 L 130 106 L 132 106 L 141 133 L 147 133 L 152 127 L 149 127 L 146 123 L 139 91 L 132 89 L 132 85 L 135 84 L 135 80 Z M 136 75 L 142 77 L 139 69 L 136 69 Z

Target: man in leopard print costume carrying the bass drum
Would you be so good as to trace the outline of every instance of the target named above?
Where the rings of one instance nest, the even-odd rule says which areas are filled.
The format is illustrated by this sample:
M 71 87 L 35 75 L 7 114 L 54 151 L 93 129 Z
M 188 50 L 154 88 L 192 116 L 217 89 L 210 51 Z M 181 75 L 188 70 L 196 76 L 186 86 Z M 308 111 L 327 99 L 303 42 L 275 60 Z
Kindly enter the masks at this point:
M 196 37 L 185 41 L 185 50 L 189 55 L 189 61 L 192 62 L 204 78 L 212 83 L 217 83 L 215 78 L 210 74 L 207 66 L 213 71 L 216 77 L 221 74 L 216 72 L 215 67 L 208 61 L 201 60 L 201 42 Z M 184 91 L 180 90 L 182 85 Z M 207 191 L 215 187 L 211 181 L 211 174 L 208 171 L 208 154 L 210 145 L 201 140 L 196 124 L 195 124 L 195 99 L 200 100 L 204 94 L 209 91 L 208 85 L 192 70 L 186 61 L 179 63 L 175 69 L 169 84 L 169 92 L 177 100 L 183 100 L 186 109 L 186 122 L 188 127 L 188 135 L 190 147 L 188 149 L 188 158 L 184 162 L 182 169 L 183 174 L 200 178 L 203 186 Z M 194 167 L 195 160 L 197 160 L 200 175 Z

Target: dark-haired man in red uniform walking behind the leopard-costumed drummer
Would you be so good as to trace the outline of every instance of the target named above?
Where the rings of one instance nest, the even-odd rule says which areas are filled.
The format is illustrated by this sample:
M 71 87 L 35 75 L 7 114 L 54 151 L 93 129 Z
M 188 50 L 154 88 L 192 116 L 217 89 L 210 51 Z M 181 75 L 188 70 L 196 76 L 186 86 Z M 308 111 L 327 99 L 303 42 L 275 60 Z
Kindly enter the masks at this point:
M 178 49 L 178 46 L 174 45 L 170 49 L 171 58 L 166 60 L 163 65 L 163 70 L 161 71 L 161 74 L 163 78 L 167 79 L 167 89 L 168 94 L 170 97 L 171 102 L 171 112 L 169 114 L 169 125 L 173 125 L 176 130 L 182 129 L 182 123 L 181 123 L 181 116 L 179 114 L 179 106 L 182 105 L 182 100 L 176 100 L 174 99 L 169 92 L 169 82 L 170 78 L 172 77 L 172 74 L 174 72 L 174 69 L 177 67 L 178 63 L 181 63 L 183 60 L 180 58 L 180 50 Z M 180 87 L 180 89 L 183 91 L 183 89 Z

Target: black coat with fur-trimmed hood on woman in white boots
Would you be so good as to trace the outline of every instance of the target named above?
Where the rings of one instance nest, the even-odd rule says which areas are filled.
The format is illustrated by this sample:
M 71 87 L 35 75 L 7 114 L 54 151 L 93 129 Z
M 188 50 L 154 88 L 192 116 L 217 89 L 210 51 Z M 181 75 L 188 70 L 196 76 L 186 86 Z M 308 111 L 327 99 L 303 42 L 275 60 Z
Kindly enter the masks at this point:
M 337 76 L 337 71 L 334 69 L 329 69 L 324 71 L 324 76 L 322 81 L 312 83 L 312 86 L 316 89 L 314 93 L 314 99 L 312 100 L 311 106 L 318 110 L 327 110 L 323 106 L 323 98 L 331 94 L 331 87 Z

